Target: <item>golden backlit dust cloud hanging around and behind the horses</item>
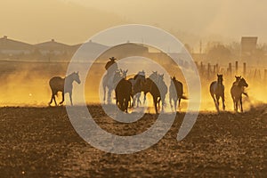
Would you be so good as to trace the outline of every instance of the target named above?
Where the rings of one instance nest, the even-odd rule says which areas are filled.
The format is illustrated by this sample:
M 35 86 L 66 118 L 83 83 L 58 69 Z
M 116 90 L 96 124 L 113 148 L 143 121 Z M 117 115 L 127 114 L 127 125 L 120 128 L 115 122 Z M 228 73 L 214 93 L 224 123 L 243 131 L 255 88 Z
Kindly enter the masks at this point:
M 26 106 L 26 107 L 46 107 L 51 99 L 51 90 L 49 87 L 49 79 L 54 76 L 65 77 L 69 63 L 48 63 L 48 62 L 15 62 L 15 61 L 1 61 L 1 73 L 0 73 L 0 106 Z M 132 65 L 133 66 L 133 65 Z M 136 65 L 135 65 L 136 66 Z M 123 63 L 119 64 L 119 68 L 126 69 Z M 178 67 L 170 65 L 168 73 L 165 73 L 162 69 L 158 70 L 158 73 L 165 73 L 166 85 L 169 86 L 170 78 L 167 75 L 182 81 L 184 87 L 184 95 L 190 98 L 188 94 L 187 85 L 185 79 L 182 76 L 182 72 Z M 146 68 L 145 65 L 142 69 L 146 70 L 146 77 L 149 77 L 152 70 Z M 140 70 L 142 70 L 140 69 Z M 138 69 L 130 69 L 129 76 L 133 77 L 134 73 L 137 73 Z M 88 104 L 100 103 L 102 100 L 101 90 L 101 77 L 104 75 L 104 63 L 95 63 L 92 69 L 89 71 L 85 80 L 85 101 Z M 246 89 L 249 97 L 243 97 L 244 109 L 249 110 L 263 102 L 267 101 L 266 85 L 265 81 L 261 78 L 245 77 L 248 87 Z M 201 110 L 215 111 L 214 102 L 209 93 L 209 85 L 212 81 L 216 80 L 216 76 L 207 80 L 201 78 Z M 224 77 L 223 84 L 225 85 L 225 105 L 226 110 L 233 110 L 233 103 L 231 100 L 231 85 L 234 82 L 235 77 Z M 74 83 L 74 90 L 77 84 Z M 75 94 L 75 93 L 74 93 Z M 142 95 L 143 97 L 143 95 Z M 69 100 L 68 94 L 65 96 L 66 100 Z M 114 97 L 113 97 L 114 98 Z M 141 98 L 142 99 L 142 98 Z M 61 101 L 61 93 L 58 95 L 58 101 Z M 74 104 L 79 104 L 80 101 L 74 101 Z M 115 100 L 114 100 L 115 102 Z M 222 104 L 222 101 L 221 103 Z M 152 101 L 150 94 L 148 94 L 147 107 L 151 108 Z M 181 110 L 186 111 L 188 101 L 183 100 Z M 222 105 L 221 105 L 222 109 Z M 153 109 L 150 109 L 152 112 Z M 166 111 L 171 110 L 168 93 L 166 95 Z

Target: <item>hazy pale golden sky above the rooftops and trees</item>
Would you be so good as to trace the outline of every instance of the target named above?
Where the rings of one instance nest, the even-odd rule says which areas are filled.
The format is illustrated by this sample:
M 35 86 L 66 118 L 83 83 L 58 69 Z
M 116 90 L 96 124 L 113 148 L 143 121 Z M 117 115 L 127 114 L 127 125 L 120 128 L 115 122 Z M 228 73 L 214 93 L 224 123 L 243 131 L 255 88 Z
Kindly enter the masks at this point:
M 0 0 L 0 5 L 0 36 L 31 44 L 52 38 L 83 43 L 126 23 L 155 25 L 190 44 L 241 36 L 267 42 L 265 0 Z

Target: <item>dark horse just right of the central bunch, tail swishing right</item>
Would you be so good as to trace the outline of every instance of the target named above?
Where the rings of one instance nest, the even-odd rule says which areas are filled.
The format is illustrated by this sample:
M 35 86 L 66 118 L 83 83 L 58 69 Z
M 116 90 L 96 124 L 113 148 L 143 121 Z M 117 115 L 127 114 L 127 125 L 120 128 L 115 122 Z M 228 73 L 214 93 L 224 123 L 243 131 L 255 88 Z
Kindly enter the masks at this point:
M 174 110 L 177 109 L 177 101 L 178 101 L 178 107 L 180 109 L 180 103 L 181 100 L 187 100 L 188 98 L 183 96 L 183 88 L 182 88 L 182 82 L 176 80 L 175 77 L 171 77 L 171 85 L 169 87 L 169 102 L 173 109 L 172 101 L 174 101 Z

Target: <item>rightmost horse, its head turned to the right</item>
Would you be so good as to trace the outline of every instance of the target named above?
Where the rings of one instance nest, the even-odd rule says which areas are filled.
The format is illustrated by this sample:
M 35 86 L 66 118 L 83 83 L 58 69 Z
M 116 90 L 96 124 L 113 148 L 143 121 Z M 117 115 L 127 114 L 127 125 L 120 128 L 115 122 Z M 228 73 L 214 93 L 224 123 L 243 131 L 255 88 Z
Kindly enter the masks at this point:
M 238 83 L 233 84 L 231 86 L 231 98 L 234 104 L 234 110 L 236 112 L 238 112 L 239 103 L 240 103 L 240 111 L 243 112 L 242 94 L 247 95 L 247 93 L 244 92 L 245 87 L 247 86 L 248 86 L 247 82 L 244 78 L 240 78 Z

